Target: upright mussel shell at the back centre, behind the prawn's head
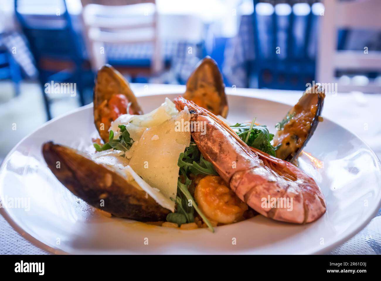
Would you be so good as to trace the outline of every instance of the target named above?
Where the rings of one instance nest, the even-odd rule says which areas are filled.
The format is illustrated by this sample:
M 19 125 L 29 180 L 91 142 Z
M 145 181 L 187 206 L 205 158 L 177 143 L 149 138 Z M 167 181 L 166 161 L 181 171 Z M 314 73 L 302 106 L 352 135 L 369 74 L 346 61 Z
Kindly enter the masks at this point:
M 217 63 L 210 57 L 199 62 L 186 84 L 184 98 L 215 115 L 227 116 L 225 84 Z

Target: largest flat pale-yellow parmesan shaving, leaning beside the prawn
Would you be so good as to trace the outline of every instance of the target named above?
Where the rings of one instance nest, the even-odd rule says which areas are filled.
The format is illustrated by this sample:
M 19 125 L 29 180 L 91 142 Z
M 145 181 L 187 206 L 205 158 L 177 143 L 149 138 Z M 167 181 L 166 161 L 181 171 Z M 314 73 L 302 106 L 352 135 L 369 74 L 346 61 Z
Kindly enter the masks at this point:
M 176 198 L 177 193 L 178 158 L 191 141 L 191 133 L 175 130 L 175 122 L 189 121 L 190 118 L 189 111 L 182 110 L 164 123 L 146 129 L 129 164 L 147 184 L 160 191 L 167 207 L 158 203 L 165 208 L 170 206 L 171 211 L 174 202 L 170 198 Z

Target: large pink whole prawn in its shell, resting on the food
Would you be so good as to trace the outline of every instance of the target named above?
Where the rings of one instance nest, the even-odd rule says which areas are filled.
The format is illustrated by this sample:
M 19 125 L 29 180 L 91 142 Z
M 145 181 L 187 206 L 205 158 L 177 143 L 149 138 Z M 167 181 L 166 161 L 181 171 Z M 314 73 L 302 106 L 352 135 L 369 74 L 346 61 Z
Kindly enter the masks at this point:
M 239 199 L 255 211 L 291 223 L 309 223 L 325 213 L 324 195 L 314 179 L 287 161 L 248 147 L 226 123 L 195 103 L 182 97 L 174 102 L 179 110 L 189 108 L 195 124 L 207 124 L 206 134 L 197 126 L 191 132 L 197 147 Z M 278 201 L 272 205 L 269 197 L 288 198 L 292 208 Z

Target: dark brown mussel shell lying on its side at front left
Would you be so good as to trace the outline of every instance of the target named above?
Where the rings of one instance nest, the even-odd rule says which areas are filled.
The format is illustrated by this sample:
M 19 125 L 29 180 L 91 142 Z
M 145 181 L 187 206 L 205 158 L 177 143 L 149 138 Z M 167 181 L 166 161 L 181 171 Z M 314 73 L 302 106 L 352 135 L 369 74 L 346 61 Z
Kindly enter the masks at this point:
M 120 174 L 74 149 L 46 142 L 42 153 L 54 176 L 74 195 L 95 208 L 138 221 L 165 221 L 170 213 Z

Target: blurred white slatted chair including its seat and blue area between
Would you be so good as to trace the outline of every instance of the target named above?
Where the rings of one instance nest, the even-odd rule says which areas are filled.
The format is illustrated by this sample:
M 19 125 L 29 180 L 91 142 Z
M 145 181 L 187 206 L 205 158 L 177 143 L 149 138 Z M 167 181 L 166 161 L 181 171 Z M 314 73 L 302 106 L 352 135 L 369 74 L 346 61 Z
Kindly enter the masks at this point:
M 94 71 L 109 63 L 133 78 L 139 74 L 150 76 L 160 73 L 165 62 L 155 1 L 133 0 L 123 6 L 110 6 L 112 1 L 98 2 L 109 5 L 86 5 L 86 1 L 82 1 L 86 39 Z

